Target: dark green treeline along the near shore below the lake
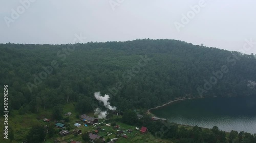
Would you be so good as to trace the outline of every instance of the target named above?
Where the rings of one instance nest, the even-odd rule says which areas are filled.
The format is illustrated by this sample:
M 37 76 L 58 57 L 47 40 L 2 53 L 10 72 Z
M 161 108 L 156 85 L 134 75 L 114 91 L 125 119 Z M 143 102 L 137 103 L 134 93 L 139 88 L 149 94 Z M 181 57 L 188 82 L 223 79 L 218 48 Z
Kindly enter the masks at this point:
M 241 131 L 226 133 L 217 126 L 212 129 L 202 129 L 198 126 L 193 128 L 178 127 L 177 124 L 165 121 L 152 121 L 147 114 L 138 119 L 136 112 L 126 110 L 121 121 L 133 126 L 145 126 L 156 138 L 172 139 L 177 143 L 253 143 L 256 142 L 256 134 Z M 118 120 L 118 119 L 117 119 Z

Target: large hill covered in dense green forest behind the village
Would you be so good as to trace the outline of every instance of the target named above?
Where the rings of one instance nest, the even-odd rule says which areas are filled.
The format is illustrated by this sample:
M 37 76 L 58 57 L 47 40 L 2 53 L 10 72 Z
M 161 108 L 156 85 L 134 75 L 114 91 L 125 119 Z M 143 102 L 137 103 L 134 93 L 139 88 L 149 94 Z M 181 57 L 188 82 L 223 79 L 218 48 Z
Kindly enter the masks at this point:
M 85 112 L 98 103 L 94 92 L 111 95 L 111 105 L 120 110 L 184 96 L 256 94 L 255 55 L 177 40 L 9 43 L 0 44 L 0 52 L 0 92 L 7 84 L 9 109 L 23 106 L 36 112 L 38 106 L 77 102 L 76 108 Z

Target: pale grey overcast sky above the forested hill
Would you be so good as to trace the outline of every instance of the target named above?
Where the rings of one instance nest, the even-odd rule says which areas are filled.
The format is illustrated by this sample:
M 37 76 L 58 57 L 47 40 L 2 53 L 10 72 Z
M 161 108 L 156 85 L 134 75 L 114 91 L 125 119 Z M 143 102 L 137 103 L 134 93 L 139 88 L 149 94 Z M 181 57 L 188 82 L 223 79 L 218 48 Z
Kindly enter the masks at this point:
M 81 33 L 85 42 L 176 39 L 255 54 L 255 6 L 253 0 L 6 0 L 0 43 L 66 44 Z

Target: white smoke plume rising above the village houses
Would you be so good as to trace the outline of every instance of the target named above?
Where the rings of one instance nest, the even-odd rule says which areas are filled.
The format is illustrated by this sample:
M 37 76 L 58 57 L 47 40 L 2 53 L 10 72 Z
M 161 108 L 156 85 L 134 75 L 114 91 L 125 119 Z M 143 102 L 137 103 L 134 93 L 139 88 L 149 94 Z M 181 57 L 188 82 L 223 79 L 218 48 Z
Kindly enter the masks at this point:
M 105 94 L 104 96 L 100 95 L 100 92 L 95 92 L 94 93 L 94 97 L 99 101 L 99 102 L 103 102 L 104 106 L 110 110 L 116 110 L 115 106 L 111 106 L 109 99 L 110 96 Z M 97 115 L 99 119 L 105 119 L 106 118 L 106 111 L 102 111 L 100 108 L 96 108 L 94 110 L 94 115 Z

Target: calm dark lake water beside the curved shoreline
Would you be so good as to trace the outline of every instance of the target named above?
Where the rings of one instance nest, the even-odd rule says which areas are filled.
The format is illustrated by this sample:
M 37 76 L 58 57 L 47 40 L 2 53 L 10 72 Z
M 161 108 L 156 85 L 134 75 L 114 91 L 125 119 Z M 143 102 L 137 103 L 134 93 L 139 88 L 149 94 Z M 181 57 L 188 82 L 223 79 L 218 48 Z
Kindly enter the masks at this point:
M 151 110 L 169 122 L 223 131 L 256 133 L 256 97 L 217 97 L 173 102 Z

